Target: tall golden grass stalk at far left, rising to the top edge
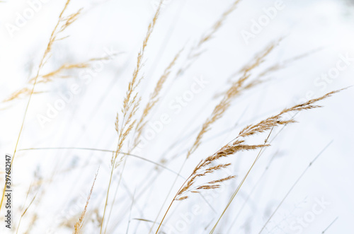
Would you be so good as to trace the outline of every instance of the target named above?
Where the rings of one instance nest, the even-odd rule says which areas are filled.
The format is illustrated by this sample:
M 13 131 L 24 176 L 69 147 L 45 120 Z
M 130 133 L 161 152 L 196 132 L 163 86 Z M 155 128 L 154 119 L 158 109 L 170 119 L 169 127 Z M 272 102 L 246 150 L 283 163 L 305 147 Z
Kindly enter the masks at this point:
M 77 17 L 79 16 L 79 13 L 81 10 L 77 11 L 76 13 L 73 13 L 67 17 L 64 17 L 64 13 L 67 10 L 67 6 L 69 6 L 71 0 L 67 0 L 67 2 L 65 3 L 64 8 L 62 9 L 62 12 L 59 15 L 59 19 L 57 21 L 57 24 L 55 25 L 54 30 L 52 31 L 52 34 L 50 35 L 50 40 L 47 44 L 47 47 L 45 49 L 45 52 L 42 56 L 42 59 L 40 60 L 40 64 L 38 66 L 38 71 L 37 71 L 37 75 L 35 76 L 35 80 L 33 82 L 33 86 L 30 89 L 30 96 L 28 98 L 28 103 L 25 107 L 25 113 L 23 115 L 23 120 L 22 120 L 22 124 L 21 124 L 21 129 L 20 132 L 18 133 L 18 139 L 16 141 L 16 146 L 15 146 L 15 150 L 13 151 L 13 157 L 11 160 L 11 168 L 12 168 L 12 164 L 13 164 L 13 160 L 16 157 L 16 151 L 17 151 L 17 147 L 18 147 L 18 142 L 21 139 L 21 134 L 22 134 L 22 130 L 23 130 L 23 125 L 25 124 L 25 117 L 27 116 L 27 112 L 28 112 L 28 107 L 30 106 L 30 100 L 32 98 L 33 93 L 35 93 L 35 86 L 37 84 L 38 81 L 38 77 L 40 76 L 40 71 L 42 70 L 42 67 L 46 64 L 47 59 L 50 58 L 50 52 L 52 51 L 52 46 L 55 42 L 57 42 L 58 40 L 63 40 L 65 37 L 62 38 L 57 38 L 58 35 L 60 35 L 60 33 L 64 32 L 65 29 L 67 29 L 69 27 L 69 25 L 72 25 L 72 23 L 74 23 L 74 21 L 76 21 Z M 4 195 L 5 195 L 5 189 L 6 186 L 4 185 L 4 189 L 3 189 L 3 193 L 2 193 L 2 197 L 1 197 L 1 203 L 0 203 L 0 211 L 1 211 L 1 207 L 4 201 Z

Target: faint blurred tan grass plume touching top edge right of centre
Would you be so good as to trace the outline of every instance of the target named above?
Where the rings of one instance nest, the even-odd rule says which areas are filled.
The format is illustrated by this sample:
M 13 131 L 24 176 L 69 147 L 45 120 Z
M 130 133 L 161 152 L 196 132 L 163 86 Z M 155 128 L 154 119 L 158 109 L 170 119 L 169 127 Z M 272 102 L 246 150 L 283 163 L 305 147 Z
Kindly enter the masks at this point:
M 217 20 L 217 22 L 215 22 L 214 25 L 212 25 L 210 31 L 205 35 L 202 35 L 197 45 L 193 46 L 190 49 L 190 52 L 188 53 L 187 61 L 185 62 L 185 66 L 183 66 L 181 69 L 178 70 L 176 75 L 177 77 L 181 76 L 181 74 L 183 74 L 187 69 L 189 69 L 189 67 L 193 64 L 193 62 L 195 62 L 195 60 L 198 59 L 198 57 L 200 57 L 200 55 L 204 52 L 201 51 L 202 46 L 206 42 L 212 39 L 212 37 L 215 35 L 215 33 L 217 33 L 219 28 L 222 27 L 222 24 L 224 23 L 224 21 L 226 21 L 227 17 L 236 9 L 240 1 L 241 0 L 234 1 L 234 3 L 231 6 L 229 6 L 229 8 L 227 8 L 227 10 L 224 11 L 224 13 L 222 13 L 222 16 L 219 18 L 219 20 Z

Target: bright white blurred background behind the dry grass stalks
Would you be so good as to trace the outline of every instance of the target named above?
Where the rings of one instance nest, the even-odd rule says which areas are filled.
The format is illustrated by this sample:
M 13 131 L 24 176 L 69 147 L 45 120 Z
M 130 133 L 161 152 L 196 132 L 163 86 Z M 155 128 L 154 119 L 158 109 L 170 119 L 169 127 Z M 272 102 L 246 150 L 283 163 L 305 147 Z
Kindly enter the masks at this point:
M 115 150 L 115 114 L 122 107 L 137 53 L 156 9 L 155 1 L 72 1 L 69 12 L 83 8 L 82 14 L 64 32 L 69 37 L 55 44 L 52 57 L 42 72 L 53 71 L 64 63 L 102 57 L 106 51 L 114 51 L 117 55 L 102 70 L 95 71 L 89 82 L 78 78 L 80 71 L 73 70 L 67 74 L 70 78 L 57 78 L 39 85 L 36 91 L 43 93 L 33 96 L 18 149 L 76 147 Z M 232 0 L 165 2 L 145 54 L 145 78 L 140 86 L 143 105 L 176 52 L 197 42 L 233 3 Z M 285 0 L 283 9 L 260 33 L 246 42 L 241 32 L 250 32 L 253 20 L 258 21 L 265 14 L 264 8 L 274 7 L 276 2 L 241 1 L 215 37 L 204 45 L 205 52 L 195 64 L 177 81 L 169 82 L 165 87 L 151 120 L 154 122 L 167 113 L 171 123 L 149 141 L 149 146 L 139 152 L 139 156 L 154 162 L 161 158 L 169 159 L 166 167 L 178 171 L 183 163 L 183 153 L 193 144 L 202 122 L 219 100 L 215 94 L 227 89 L 231 74 L 280 37 L 282 42 L 256 73 L 287 59 L 302 54 L 307 56 L 271 73 L 267 77 L 269 81 L 237 98 L 193 154 L 181 172 L 184 177 L 188 177 L 201 158 L 232 140 L 246 124 L 277 114 L 282 108 L 295 105 L 300 100 L 353 86 L 354 2 Z M 0 100 L 23 88 L 28 79 L 35 76 L 63 6 L 64 1 L 47 1 L 38 6 L 38 12 L 21 27 L 9 30 L 9 25 L 16 25 L 17 18 L 23 16 L 30 4 L 23 0 L 0 3 Z M 346 68 L 335 78 L 325 79 L 322 75 L 336 68 L 343 57 L 349 57 Z M 185 56 L 181 63 L 183 59 Z M 194 78 L 198 77 L 209 83 L 176 114 L 169 108 L 169 103 L 188 90 Z M 80 92 L 42 127 L 38 115 L 45 115 L 48 106 L 54 105 L 73 84 L 79 85 Z M 280 134 L 258 160 L 219 223 L 217 233 L 258 233 L 309 163 L 330 142 L 331 145 L 293 187 L 263 233 L 353 233 L 353 100 L 353 88 L 348 88 L 322 101 L 323 108 L 301 112 L 296 116 L 299 123 L 282 131 L 275 129 L 273 136 Z M 25 97 L 0 103 L 2 156 L 13 153 L 27 101 L 28 97 Z M 257 138 L 260 139 L 258 142 L 265 137 Z M 256 155 L 255 151 L 232 157 L 230 173 L 237 175 L 237 179 L 222 191 L 210 195 L 211 207 L 199 196 L 173 206 L 164 231 L 209 233 Z M 103 213 L 110 157 L 110 153 L 101 151 L 73 149 L 18 151 L 13 165 L 15 226 L 23 206 L 28 206 L 36 196 L 18 233 L 25 233 L 33 220 L 35 223 L 30 233 L 72 233 L 74 222 L 84 208 L 82 200 L 86 201 L 95 172 L 101 165 L 84 224 L 84 233 L 99 233 L 97 219 Z M 4 163 L 0 165 L 4 171 Z M 149 232 L 151 223 L 137 218 L 154 221 L 176 176 L 167 170 L 157 172 L 154 167 L 144 160 L 127 158 L 107 233 Z M 155 174 L 159 177 L 152 186 L 142 186 Z M 33 189 L 25 200 L 31 183 Z M 183 180 L 178 180 L 175 189 L 181 183 Z M 134 206 L 130 209 L 133 196 Z M 314 206 L 319 201 L 318 207 L 322 205 L 323 209 L 314 214 Z M 202 213 L 190 216 L 195 204 Z M 33 219 L 35 213 L 38 217 Z M 127 232 L 128 223 L 130 228 Z M 4 230 L 1 229 L 1 233 Z

